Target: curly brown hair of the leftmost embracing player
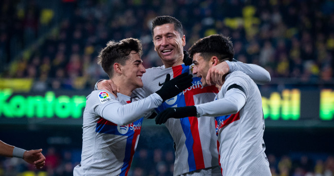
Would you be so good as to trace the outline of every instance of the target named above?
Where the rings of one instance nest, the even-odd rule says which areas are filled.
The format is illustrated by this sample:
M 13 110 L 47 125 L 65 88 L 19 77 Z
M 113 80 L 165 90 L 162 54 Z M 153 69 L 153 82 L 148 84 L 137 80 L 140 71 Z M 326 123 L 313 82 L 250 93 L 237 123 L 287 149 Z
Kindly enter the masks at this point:
M 109 78 L 112 78 L 114 63 L 124 65 L 125 61 L 130 58 L 131 51 L 136 51 L 139 56 L 142 56 L 143 47 L 140 40 L 128 38 L 119 42 L 110 41 L 107 43 L 107 47 L 98 54 L 97 63 L 102 66 Z

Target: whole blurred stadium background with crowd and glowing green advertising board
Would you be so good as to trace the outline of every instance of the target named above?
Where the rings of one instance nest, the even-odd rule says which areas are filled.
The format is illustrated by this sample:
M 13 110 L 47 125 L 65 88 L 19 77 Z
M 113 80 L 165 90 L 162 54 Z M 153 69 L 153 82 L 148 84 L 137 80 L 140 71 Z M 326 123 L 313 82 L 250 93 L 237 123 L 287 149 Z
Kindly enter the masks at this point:
M 270 72 L 259 88 L 273 175 L 334 174 L 333 1 L 4 0 L 0 9 L 0 139 L 46 156 L 42 170 L 0 157 L 0 175 L 72 175 L 85 96 L 107 79 L 98 52 L 139 38 L 145 67 L 161 65 L 150 31 L 159 15 L 182 22 L 186 49 L 222 33 L 235 58 Z M 129 175 L 172 175 L 173 163 L 168 130 L 144 120 Z

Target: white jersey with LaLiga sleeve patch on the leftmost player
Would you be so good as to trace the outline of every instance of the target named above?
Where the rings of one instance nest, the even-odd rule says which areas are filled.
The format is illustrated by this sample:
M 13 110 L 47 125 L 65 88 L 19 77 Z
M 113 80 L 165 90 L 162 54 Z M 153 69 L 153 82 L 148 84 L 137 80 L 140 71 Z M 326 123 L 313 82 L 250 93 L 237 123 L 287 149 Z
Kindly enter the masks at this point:
M 157 94 L 133 103 L 121 93 L 117 98 L 104 90 L 89 94 L 83 115 L 81 163 L 74 168 L 74 175 L 127 175 L 142 127 L 141 115 L 161 101 Z M 111 116 L 102 118 L 105 113 Z M 114 123 L 124 118 L 132 123 Z

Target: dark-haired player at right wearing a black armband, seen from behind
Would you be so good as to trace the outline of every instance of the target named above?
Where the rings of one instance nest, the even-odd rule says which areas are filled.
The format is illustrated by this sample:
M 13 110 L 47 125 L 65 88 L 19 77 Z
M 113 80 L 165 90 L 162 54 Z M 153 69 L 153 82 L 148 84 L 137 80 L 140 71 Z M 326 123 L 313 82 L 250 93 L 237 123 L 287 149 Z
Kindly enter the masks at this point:
M 193 74 L 206 86 L 209 69 L 234 55 L 229 38 L 220 34 L 198 40 L 190 49 Z M 215 117 L 222 175 L 271 175 L 264 153 L 264 118 L 260 91 L 246 74 L 236 71 L 225 76 L 214 101 L 189 107 L 169 108 L 156 117 L 156 123 L 170 118 Z M 205 117 L 209 118 L 209 117 Z

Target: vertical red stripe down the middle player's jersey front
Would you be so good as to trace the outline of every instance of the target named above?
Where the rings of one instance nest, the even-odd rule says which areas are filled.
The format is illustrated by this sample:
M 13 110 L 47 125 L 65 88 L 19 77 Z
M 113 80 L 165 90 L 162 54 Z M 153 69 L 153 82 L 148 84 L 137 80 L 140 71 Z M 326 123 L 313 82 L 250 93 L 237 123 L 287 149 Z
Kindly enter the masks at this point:
M 173 75 L 174 78 L 182 74 L 182 65 L 178 65 L 173 67 Z M 193 89 L 192 89 L 193 90 Z M 186 91 L 184 94 L 185 103 L 187 106 L 189 105 L 195 105 L 194 103 L 194 91 Z M 212 92 L 212 91 L 211 91 Z M 204 93 L 201 91 L 201 93 Z M 192 146 L 195 164 L 196 164 L 196 170 L 202 169 L 205 167 L 204 164 L 204 158 L 203 158 L 203 151 L 202 151 L 202 144 L 201 144 L 201 138 L 199 138 L 199 131 L 198 131 L 198 120 L 197 117 L 189 117 L 189 123 L 190 123 L 190 131 L 192 134 L 192 138 L 194 141 L 194 144 Z

